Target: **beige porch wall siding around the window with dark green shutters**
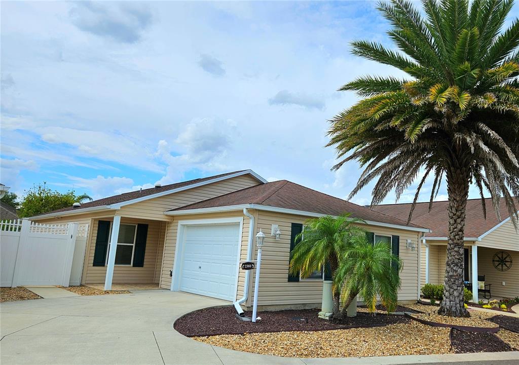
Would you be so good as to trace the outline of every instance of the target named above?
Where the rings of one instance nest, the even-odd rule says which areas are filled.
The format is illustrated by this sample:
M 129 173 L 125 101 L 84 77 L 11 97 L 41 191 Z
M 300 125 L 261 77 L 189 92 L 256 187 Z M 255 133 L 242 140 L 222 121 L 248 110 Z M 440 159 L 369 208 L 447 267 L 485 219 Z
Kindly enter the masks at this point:
M 95 252 L 95 240 L 97 239 L 98 222 L 94 219 L 92 224 L 92 234 L 87 247 L 87 266 L 84 274 L 84 284 L 102 284 L 106 277 L 106 266 L 93 266 Z M 113 217 L 101 218 L 101 220 L 113 221 Z M 156 273 L 157 255 L 160 252 L 160 227 L 161 222 L 144 219 L 133 219 L 121 217 L 121 224 L 124 223 L 145 223 L 148 224 L 148 235 L 146 238 L 146 251 L 144 254 L 144 266 L 134 268 L 133 266 L 115 265 L 114 284 L 135 284 L 135 283 L 154 283 L 158 282 Z M 165 227 L 164 227 L 165 228 Z M 160 261 L 159 261 L 160 263 Z

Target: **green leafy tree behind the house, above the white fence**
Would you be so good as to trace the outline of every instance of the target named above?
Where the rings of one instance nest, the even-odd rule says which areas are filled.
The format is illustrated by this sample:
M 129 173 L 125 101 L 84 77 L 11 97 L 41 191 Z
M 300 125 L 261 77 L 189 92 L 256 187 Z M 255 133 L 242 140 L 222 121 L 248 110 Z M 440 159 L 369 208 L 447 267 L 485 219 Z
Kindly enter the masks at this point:
M 76 202 L 91 201 L 92 198 L 87 194 L 76 195 L 74 190 L 60 193 L 51 190 L 46 182 L 34 185 L 31 189 L 25 190 L 25 195 L 20 203 L 18 216 L 32 217 L 38 214 L 52 212 L 52 210 L 72 206 Z M 2 199 L 2 201 L 4 201 Z

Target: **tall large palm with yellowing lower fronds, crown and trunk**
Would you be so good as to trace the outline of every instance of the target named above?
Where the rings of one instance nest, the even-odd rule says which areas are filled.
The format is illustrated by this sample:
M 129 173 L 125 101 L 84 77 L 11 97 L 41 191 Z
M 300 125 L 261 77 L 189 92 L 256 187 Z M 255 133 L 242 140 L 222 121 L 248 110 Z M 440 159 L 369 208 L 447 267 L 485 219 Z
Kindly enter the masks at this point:
M 397 200 L 422 173 L 433 177 L 430 206 L 444 179 L 448 245 L 439 314 L 468 316 L 463 306 L 463 232 L 469 187 L 500 195 L 517 227 L 519 195 L 519 21 L 501 28 L 512 0 L 422 1 L 425 18 L 405 0 L 380 3 L 398 50 L 357 40 L 352 53 L 405 72 L 408 78 L 361 77 L 340 90 L 363 100 L 331 120 L 328 146 L 339 169 L 357 160 L 364 171 L 351 196 L 376 179 L 372 205 L 394 189 Z M 483 212 L 485 203 L 482 200 Z

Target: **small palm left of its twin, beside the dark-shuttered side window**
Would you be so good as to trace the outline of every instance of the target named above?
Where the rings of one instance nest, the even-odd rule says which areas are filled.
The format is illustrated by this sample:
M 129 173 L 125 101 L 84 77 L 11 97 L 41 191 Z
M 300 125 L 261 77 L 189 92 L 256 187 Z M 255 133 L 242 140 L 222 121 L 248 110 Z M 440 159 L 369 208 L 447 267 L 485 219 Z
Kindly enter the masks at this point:
M 292 250 L 289 272 L 292 275 L 308 277 L 316 271 L 322 271 L 330 263 L 333 285 L 333 313 L 340 315 L 340 286 L 335 284 L 335 271 L 346 247 L 355 236 L 365 236 L 365 231 L 357 224 L 365 223 L 362 219 L 352 218 L 349 213 L 338 217 L 324 216 L 305 222 L 302 233 L 296 236 L 299 241 Z

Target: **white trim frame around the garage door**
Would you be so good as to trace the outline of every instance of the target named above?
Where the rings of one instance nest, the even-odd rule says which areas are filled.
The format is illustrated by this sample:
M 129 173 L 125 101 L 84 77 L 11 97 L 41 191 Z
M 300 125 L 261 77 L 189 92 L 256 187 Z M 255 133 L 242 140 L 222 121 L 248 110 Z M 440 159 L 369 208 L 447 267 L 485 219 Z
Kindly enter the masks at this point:
M 236 280 L 234 285 L 234 298 L 235 300 L 238 295 L 238 278 L 241 258 L 241 241 L 243 236 L 243 217 L 230 217 L 230 218 L 214 218 L 214 219 L 191 219 L 191 220 L 180 220 L 176 233 L 176 244 L 175 244 L 175 258 L 173 260 L 173 277 L 171 278 L 171 291 L 180 290 L 180 282 L 183 263 L 183 245 L 184 245 L 184 228 L 186 226 L 209 226 L 219 224 L 239 223 L 239 235 L 238 235 L 238 257 L 236 262 Z

